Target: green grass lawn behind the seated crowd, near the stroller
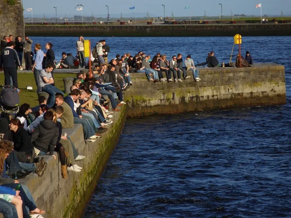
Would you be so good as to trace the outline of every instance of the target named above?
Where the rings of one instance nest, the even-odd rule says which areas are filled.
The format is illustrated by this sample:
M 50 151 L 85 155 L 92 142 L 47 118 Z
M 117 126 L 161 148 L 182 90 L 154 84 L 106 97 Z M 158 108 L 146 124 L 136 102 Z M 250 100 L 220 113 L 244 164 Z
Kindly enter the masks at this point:
M 76 74 L 73 73 L 54 73 L 53 74 L 55 85 L 63 92 L 65 90 L 63 78 L 66 77 L 76 77 Z M 0 73 L 0 84 L 4 84 L 4 74 Z M 19 93 L 20 105 L 23 103 L 30 104 L 31 107 L 38 105 L 36 85 L 34 82 L 33 73 L 18 73 L 18 85 L 21 92 Z M 32 86 L 32 90 L 27 90 L 26 86 Z

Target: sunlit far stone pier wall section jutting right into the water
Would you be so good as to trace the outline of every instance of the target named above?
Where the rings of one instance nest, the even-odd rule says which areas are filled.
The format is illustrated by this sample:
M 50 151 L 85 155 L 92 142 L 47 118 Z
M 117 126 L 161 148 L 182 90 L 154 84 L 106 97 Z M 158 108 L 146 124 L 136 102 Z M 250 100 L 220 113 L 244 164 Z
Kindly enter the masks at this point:
M 128 116 L 177 114 L 227 107 L 286 103 L 285 69 L 276 64 L 245 68 L 199 68 L 200 82 L 147 82 L 143 73 L 131 74 L 126 91 Z

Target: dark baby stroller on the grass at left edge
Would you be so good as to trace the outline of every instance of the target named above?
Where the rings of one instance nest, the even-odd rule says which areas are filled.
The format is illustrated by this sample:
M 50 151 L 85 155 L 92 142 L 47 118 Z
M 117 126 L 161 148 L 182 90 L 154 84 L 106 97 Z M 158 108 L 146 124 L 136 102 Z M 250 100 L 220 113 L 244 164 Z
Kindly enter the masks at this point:
M 18 113 L 19 94 L 14 86 L 6 85 L 2 88 L 0 92 L 0 105 L 4 112 Z

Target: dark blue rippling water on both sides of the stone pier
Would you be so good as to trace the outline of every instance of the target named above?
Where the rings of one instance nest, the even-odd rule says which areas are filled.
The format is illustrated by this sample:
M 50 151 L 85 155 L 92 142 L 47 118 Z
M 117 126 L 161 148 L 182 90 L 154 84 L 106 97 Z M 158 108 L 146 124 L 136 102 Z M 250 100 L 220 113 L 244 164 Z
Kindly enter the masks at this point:
M 73 52 L 76 40 L 35 39 L 56 44 L 59 57 Z M 210 50 L 228 62 L 233 43 L 232 37 L 106 39 L 111 57 L 159 51 L 191 54 L 195 62 Z M 291 217 L 290 41 L 242 38 L 255 62 L 286 67 L 286 105 L 129 118 L 84 218 Z

